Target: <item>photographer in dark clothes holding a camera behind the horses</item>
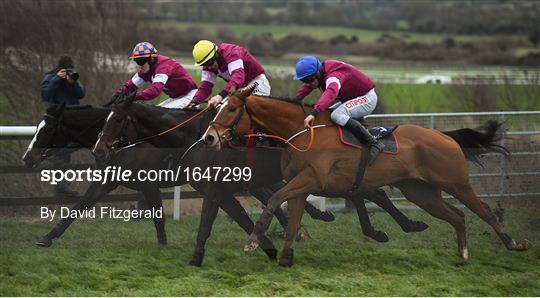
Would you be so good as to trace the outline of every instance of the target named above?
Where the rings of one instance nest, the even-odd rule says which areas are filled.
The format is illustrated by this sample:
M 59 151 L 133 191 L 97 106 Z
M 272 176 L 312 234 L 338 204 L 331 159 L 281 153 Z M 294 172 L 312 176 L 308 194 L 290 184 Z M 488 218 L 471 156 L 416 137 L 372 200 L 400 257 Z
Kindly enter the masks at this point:
M 79 73 L 73 68 L 73 60 L 69 56 L 61 56 L 58 66 L 47 72 L 41 82 L 41 97 L 51 105 L 65 103 L 66 106 L 79 105 L 79 99 L 83 98 L 86 91 L 79 81 Z M 51 156 L 51 162 L 56 168 L 68 168 L 71 161 L 71 153 L 79 150 L 81 145 L 68 144 Z M 77 192 L 68 189 L 66 181 L 59 182 L 55 186 L 57 195 L 75 196 Z

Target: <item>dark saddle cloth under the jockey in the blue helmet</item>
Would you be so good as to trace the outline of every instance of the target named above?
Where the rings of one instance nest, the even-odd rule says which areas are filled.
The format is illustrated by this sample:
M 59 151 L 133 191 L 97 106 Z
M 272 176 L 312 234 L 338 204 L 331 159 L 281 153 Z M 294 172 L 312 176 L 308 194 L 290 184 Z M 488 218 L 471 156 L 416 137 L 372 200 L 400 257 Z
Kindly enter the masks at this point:
M 374 136 L 377 140 L 380 140 L 384 145 L 384 150 L 382 153 L 385 154 L 398 154 L 399 153 L 399 143 L 394 134 L 398 126 L 392 128 L 386 127 L 373 127 L 369 129 L 369 133 Z M 341 142 L 347 146 L 362 148 L 362 142 L 347 129 L 343 127 L 339 128 L 339 139 Z

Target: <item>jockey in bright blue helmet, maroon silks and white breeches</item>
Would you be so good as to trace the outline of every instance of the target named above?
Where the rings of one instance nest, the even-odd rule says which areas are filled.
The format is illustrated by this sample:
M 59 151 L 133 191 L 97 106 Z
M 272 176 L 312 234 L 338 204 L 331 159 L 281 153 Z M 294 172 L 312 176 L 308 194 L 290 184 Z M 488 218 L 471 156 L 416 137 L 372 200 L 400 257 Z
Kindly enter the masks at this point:
M 383 150 L 384 144 L 372 136 L 356 119 L 361 119 L 375 110 L 377 94 L 375 84 L 354 66 L 337 60 L 323 63 L 313 56 L 305 56 L 296 63 L 295 80 L 303 82 L 296 97 L 303 99 L 313 89 L 320 89 L 322 94 L 315 104 L 313 112 L 304 119 L 304 125 L 313 124 L 315 116 L 326 110 L 334 101 L 340 105 L 330 114 L 332 121 L 350 130 L 370 149 L 371 163 Z

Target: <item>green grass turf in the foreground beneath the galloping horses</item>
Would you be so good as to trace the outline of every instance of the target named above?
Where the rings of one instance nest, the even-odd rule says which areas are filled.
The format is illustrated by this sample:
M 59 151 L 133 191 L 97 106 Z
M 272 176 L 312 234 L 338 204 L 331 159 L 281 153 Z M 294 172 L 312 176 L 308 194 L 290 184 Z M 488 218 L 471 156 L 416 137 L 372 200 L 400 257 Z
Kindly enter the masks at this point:
M 467 213 L 471 259 L 455 253 L 453 229 L 422 212 L 408 212 L 430 228 L 405 234 L 389 216 L 372 215 L 390 242 L 361 236 L 353 214 L 333 223 L 304 219 L 312 239 L 296 244 L 295 265 L 281 268 L 259 250 L 242 252 L 246 236 L 219 216 L 203 267 L 187 265 L 198 216 L 169 220 L 169 245 L 158 247 L 150 221 L 85 220 L 52 248 L 34 241 L 52 227 L 36 220 L 0 219 L 2 296 L 538 296 L 538 208 L 506 208 L 514 237 L 533 243 L 508 252 L 491 228 Z M 37 216 L 37 215 L 36 215 Z M 282 241 L 275 240 L 281 248 Z

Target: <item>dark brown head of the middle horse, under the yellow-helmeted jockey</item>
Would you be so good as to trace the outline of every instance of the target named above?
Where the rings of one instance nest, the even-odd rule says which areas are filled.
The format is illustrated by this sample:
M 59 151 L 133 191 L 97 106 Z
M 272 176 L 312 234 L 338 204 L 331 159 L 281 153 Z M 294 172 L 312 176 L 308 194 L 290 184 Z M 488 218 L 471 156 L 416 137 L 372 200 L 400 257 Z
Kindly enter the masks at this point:
M 92 153 L 99 161 L 109 161 L 115 149 L 125 145 L 127 140 L 135 138 L 136 120 L 130 114 L 135 95 L 133 92 L 115 99 L 111 113 L 105 120 L 103 130 L 92 149 Z

